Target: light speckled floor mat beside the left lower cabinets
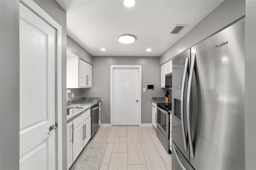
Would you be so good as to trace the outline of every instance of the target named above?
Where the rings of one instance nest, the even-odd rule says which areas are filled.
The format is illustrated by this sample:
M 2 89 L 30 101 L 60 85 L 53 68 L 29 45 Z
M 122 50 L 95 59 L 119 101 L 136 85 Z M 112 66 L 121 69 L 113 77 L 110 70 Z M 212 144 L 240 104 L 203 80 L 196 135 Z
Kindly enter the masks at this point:
M 89 142 L 70 170 L 99 170 L 106 147 L 105 142 Z

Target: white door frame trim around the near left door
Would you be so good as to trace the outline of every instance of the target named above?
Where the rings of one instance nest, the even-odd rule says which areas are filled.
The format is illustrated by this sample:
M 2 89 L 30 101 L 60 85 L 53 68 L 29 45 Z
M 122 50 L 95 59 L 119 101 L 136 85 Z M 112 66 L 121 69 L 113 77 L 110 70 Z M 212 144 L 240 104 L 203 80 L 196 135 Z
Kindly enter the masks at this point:
M 64 169 L 62 167 L 62 27 L 33 0 L 19 1 L 56 30 L 55 121 L 58 124 L 58 128 L 56 129 L 56 169 Z

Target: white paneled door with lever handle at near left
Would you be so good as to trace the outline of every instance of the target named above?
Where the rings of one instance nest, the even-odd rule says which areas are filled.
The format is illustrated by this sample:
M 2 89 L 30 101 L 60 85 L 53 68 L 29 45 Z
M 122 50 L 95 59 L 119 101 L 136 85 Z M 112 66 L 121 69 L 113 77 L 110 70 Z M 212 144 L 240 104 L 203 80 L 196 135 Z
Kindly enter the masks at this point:
M 20 3 L 20 170 L 56 169 L 55 59 L 56 30 Z

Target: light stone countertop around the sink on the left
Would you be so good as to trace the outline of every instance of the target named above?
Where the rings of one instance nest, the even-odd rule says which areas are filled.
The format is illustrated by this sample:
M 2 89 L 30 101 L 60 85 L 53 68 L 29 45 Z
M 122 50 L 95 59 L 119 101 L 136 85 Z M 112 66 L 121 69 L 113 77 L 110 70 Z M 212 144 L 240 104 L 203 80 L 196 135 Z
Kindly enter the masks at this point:
M 81 101 L 78 103 L 73 103 L 71 105 L 67 106 L 67 109 L 69 108 L 82 108 L 80 111 L 77 111 L 76 113 L 73 113 L 72 115 L 67 115 L 67 123 L 71 122 L 74 120 L 76 117 L 80 116 L 82 113 L 96 105 L 97 103 L 100 103 L 98 100 L 86 100 L 86 101 Z

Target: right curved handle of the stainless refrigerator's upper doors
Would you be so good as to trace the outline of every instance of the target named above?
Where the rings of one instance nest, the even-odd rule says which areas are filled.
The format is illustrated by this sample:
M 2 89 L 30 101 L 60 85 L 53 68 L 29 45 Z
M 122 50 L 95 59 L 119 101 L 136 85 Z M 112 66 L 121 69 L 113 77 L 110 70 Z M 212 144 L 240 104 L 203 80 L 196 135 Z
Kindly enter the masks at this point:
M 191 62 L 191 69 L 188 78 L 188 95 L 187 95 L 187 123 L 188 123 L 188 140 L 190 145 L 190 154 L 194 159 L 194 146 L 191 134 L 191 127 L 190 127 L 190 94 L 191 94 L 191 86 L 192 86 L 192 79 L 194 74 L 195 62 L 196 62 L 196 54 L 192 55 L 192 62 Z

